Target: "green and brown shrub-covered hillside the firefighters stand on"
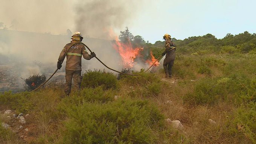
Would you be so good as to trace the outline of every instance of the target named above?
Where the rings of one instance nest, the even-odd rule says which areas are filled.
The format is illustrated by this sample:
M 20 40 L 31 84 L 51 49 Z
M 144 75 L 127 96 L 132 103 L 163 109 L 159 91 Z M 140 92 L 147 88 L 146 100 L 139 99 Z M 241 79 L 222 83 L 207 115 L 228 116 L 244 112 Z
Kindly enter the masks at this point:
M 161 68 L 120 80 L 86 71 L 82 90 L 69 97 L 55 83 L 0 94 L 0 122 L 8 127 L 0 127 L 0 143 L 256 143 L 256 35 L 173 41 L 172 79 Z M 144 46 L 155 57 L 163 52 L 161 41 Z M 13 116 L 21 112 L 24 124 Z

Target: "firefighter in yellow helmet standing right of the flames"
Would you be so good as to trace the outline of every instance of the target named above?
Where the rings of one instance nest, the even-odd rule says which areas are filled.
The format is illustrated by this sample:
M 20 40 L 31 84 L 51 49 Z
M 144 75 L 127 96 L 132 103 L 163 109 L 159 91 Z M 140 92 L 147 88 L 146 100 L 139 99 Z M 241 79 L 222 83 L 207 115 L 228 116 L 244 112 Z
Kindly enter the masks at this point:
M 163 36 L 165 39 L 165 52 L 162 53 L 162 56 L 165 56 L 163 61 L 163 68 L 165 70 L 166 78 L 171 78 L 172 76 L 172 66 L 175 59 L 175 44 L 172 42 L 171 35 L 165 34 Z

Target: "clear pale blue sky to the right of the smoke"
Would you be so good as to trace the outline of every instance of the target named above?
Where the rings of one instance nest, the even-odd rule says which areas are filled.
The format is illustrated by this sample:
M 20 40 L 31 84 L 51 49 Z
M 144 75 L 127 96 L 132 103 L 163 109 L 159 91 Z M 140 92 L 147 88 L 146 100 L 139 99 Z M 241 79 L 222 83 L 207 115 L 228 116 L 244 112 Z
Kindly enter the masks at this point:
M 177 39 L 211 33 L 256 33 L 256 0 L 161 0 L 142 7 L 130 30 L 149 42 L 164 33 Z

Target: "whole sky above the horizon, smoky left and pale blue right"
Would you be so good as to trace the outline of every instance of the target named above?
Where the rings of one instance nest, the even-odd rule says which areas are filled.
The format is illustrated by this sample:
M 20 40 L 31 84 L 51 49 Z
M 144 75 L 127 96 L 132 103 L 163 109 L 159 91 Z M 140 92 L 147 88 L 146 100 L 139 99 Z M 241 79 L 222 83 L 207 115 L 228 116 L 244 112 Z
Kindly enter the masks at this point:
M 134 36 L 140 35 L 151 43 L 163 41 L 165 33 L 176 39 L 207 33 L 216 38 L 227 33 L 256 33 L 256 0 L 0 0 L 0 3 L 3 26 L 29 32 L 58 35 L 67 29 L 75 32 L 86 26 L 83 32 L 90 31 L 87 35 L 101 38 L 102 29 L 113 29 L 119 34 L 127 26 Z M 90 11 L 86 11 L 88 6 Z M 97 23 L 92 23 L 95 18 Z

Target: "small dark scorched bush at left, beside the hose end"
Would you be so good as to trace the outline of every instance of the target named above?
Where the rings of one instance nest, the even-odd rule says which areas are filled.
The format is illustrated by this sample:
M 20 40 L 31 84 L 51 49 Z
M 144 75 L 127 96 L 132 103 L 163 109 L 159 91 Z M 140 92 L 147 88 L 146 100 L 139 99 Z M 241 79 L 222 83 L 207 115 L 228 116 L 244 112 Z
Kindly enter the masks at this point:
M 30 76 L 29 78 L 25 79 L 26 86 L 24 87 L 26 90 L 34 90 L 38 86 L 43 84 L 45 80 L 46 80 L 45 74 L 42 74 L 42 75 L 34 74 L 33 76 Z

